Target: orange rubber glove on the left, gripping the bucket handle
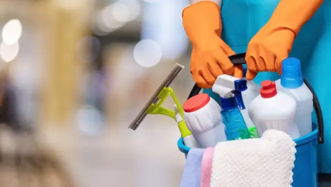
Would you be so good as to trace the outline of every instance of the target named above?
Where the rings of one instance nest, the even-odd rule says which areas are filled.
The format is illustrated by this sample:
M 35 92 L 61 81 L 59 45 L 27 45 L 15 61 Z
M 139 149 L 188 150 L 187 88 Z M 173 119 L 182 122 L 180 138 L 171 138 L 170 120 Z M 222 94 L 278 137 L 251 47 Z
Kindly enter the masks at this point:
M 228 56 L 235 52 L 220 39 L 220 10 L 213 2 L 199 2 L 183 11 L 184 29 L 192 42 L 191 74 L 201 88 L 211 88 L 217 76 L 242 78 L 242 66 L 234 67 Z

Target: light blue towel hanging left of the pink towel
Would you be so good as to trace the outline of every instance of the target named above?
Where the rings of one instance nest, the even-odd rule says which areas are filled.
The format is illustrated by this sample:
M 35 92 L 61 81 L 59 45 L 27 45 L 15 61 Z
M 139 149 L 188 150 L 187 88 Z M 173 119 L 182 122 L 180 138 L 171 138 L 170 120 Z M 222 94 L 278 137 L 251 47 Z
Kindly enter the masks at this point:
M 201 163 L 205 149 L 192 148 L 187 154 L 180 187 L 200 187 Z

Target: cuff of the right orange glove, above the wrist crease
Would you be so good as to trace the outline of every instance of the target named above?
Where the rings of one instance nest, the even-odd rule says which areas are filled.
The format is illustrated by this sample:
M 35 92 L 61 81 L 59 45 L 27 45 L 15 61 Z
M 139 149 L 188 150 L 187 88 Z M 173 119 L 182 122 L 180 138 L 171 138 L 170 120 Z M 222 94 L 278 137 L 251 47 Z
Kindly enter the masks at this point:
M 322 3 L 323 0 L 281 0 L 268 24 L 288 28 L 297 35 Z

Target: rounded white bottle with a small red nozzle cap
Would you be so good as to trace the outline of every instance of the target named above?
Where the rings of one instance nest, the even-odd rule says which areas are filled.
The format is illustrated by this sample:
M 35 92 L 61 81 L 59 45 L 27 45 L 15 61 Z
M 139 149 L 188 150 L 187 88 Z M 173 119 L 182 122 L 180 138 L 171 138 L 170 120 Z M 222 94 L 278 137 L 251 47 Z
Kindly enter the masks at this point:
M 257 96 L 248 108 L 248 114 L 259 136 L 266 130 L 283 131 L 292 139 L 300 137 L 295 123 L 297 104 L 295 100 L 283 92 L 277 91 L 271 81 L 261 83 L 260 95 Z

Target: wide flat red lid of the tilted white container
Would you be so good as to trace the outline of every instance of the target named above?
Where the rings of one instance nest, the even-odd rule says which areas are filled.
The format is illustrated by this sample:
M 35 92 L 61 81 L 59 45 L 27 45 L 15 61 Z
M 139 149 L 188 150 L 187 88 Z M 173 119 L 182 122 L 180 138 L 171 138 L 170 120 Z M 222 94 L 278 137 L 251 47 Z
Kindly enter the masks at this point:
M 198 94 L 187 100 L 183 105 L 183 109 L 185 112 L 194 112 L 204 107 L 209 101 L 210 97 L 208 94 Z

